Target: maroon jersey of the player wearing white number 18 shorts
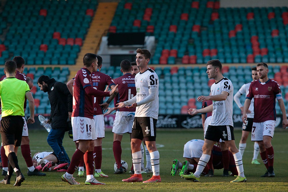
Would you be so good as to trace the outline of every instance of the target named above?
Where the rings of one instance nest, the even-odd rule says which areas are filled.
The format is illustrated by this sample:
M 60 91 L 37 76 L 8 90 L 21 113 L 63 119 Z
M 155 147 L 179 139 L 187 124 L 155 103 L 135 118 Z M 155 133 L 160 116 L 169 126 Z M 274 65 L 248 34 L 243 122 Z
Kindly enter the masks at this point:
M 73 83 L 73 112 L 72 117 L 88 117 L 93 119 L 94 96 L 85 93 L 84 88 L 92 86 L 91 73 L 81 68 L 75 75 Z

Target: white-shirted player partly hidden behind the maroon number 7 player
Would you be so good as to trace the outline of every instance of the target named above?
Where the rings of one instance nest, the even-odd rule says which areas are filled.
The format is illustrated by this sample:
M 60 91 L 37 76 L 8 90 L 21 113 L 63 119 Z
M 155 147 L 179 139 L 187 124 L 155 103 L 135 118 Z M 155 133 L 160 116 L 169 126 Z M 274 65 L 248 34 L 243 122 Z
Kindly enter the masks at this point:
M 253 67 L 251 69 L 252 71 L 252 79 L 253 81 L 259 79 L 258 75 L 257 75 L 257 69 L 256 67 Z M 240 102 L 240 96 L 241 95 L 246 95 L 249 92 L 249 86 L 251 84 L 252 81 L 245 83 L 244 85 L 242 85 L 242 87 L 238 90 L 238 92 L 234 95 L 234 101 L 235 103 L 238 105 L 238 107 L 241 109 L 241 111 L 243 111 L 243 105 Z M 251 100 L 251 104 L 249 106 L 249 109 L 247 111 L 247 116 L 248 119 L 247 121 L 245 121 L 246 123 L 243 123 L 242 125 L 242 136 L 239 142 L 239 151 L 241 153 L 241 155 L 243 156 L 245 148 L 246 148 L 246 140 L 248 138 L 249 132 L 252 132 L 252 125 L 253 125 L 253 118 L 254 118 L 254 99 Z M 257 157 L 259 155 L 259 145 L 257 143 L 257 141 L 254 142 L 254 153 L 253 153 L 253 159 L 252 159 L 252 164 L 257 164 L 259 165 L 260 163 L 257 161 Z

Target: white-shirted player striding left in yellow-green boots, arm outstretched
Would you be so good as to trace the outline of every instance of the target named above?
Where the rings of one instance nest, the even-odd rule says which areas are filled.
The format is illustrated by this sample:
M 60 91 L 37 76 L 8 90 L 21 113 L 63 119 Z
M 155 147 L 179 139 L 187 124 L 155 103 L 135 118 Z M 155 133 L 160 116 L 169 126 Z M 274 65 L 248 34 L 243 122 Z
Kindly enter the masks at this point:
M 215 79 L 215 83 L 211 86 L 211 95 L 199 96 L 197 100 L 202 102 L 204 100 L 212 100 L 213 104 L 202 109 L 189 109 L 188 114 L 196 115 L 197 113 L 207 113 L 212 111 L 211 122 L 209 123 L 204 145 L 203 154 L 198 162 L 196 172 L 190 175 L 181 175 L 187 180 L 198 182 L 200 175 L 210 159 L 211 150 L 215 142 L 221 138 L 229 151 L 233 154 L 238 176 L 231 183 L 246 182 L 244 175 L 244 168 L 242 162 L 242 155 L 238 151 L 234 140 L 233 128 L 233 85 L 232 82 L 223 77 L 221 73 L 222 64 L 218 59 L 213 59 L 207 62 L 207 71 L 209 79 Z

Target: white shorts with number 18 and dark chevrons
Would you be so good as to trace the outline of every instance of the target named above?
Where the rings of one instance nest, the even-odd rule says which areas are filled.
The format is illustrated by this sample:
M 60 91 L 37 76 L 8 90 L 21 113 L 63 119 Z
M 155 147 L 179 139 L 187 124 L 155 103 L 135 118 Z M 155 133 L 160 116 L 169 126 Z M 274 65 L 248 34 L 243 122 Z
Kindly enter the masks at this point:
M 96 140 L 94 120 L 87 117 L 71 117 L 73 141 Z

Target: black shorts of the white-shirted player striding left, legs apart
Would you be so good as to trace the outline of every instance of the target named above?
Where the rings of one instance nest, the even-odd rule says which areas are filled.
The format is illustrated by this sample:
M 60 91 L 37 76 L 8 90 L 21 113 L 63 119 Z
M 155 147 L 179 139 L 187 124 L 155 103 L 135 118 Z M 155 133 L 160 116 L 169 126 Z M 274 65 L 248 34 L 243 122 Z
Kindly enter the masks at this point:
M 211 126 L 206 131 L 205 139 L 211 141 L 230 141 L 234 139 L 234 128 L 231 125 Z

